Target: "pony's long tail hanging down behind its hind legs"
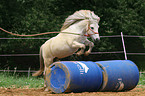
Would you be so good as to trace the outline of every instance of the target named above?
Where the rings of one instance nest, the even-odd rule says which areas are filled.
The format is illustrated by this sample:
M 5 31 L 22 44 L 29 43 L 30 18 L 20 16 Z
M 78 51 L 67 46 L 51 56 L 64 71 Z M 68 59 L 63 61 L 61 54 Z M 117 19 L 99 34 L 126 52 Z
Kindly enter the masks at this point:
M 40 57 L 40 69 L 37 72 L 33 73 L 32 76 L 39 76 L 44 71 L 43 57 L 42 57 L 42 46 L 40 47 L 39 57 Z

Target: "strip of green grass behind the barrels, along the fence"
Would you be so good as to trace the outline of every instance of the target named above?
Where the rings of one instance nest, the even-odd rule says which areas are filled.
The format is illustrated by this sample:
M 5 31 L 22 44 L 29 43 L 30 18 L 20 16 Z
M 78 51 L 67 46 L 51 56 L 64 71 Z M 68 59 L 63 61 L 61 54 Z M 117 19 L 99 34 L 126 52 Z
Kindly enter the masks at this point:
M 44 79 L 42 77 L 32 77 L 26 74 L 0 73 L 0 88 L 42 88 Z M 145 87 L 145 74 L 140 74 L 138 87 Z

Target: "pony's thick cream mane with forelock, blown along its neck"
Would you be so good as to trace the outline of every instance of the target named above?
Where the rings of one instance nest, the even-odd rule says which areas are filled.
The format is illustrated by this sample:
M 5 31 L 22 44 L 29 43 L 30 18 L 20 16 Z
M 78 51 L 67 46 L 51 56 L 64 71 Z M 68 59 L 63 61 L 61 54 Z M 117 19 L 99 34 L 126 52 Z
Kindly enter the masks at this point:
M 67 29 L 72 24 L 81 21 L 81 20 L 89 20 L 99 22 L 100 18 L 94 14 L 94 12 L 90 10 L 80 10 L 76 11 L 73 15 L 70 15 L 64 22 L 61 31 Z

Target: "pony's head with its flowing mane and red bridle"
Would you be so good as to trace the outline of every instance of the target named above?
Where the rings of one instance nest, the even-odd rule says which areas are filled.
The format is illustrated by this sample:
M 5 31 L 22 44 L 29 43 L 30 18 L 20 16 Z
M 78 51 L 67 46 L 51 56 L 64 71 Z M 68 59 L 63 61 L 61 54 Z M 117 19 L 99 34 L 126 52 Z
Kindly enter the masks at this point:
M 93 40 L 100 39 L 98 29 L 99 29 L 99 21 L 100 18 L 94 14 L 94 12 L 90 10 L 80 10 L 76 11 L 73 15 L 69 16 L 62 28 L 61 31 L 69 28 L 71 25 L 76 24 L 80 21 L 88 21 L 85 26 L 85 36 L 90 36 Z

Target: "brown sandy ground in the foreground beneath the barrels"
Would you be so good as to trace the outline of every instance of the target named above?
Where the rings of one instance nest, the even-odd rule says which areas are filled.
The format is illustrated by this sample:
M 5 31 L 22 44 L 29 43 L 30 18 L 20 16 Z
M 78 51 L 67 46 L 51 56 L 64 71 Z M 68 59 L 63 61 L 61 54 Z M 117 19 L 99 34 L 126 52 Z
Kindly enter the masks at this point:
M 52 94 L 43 89 L 0 88 L 0 96 L 145 96 L 145 88 L 134 88 L 127 92 L 82 92 Z

